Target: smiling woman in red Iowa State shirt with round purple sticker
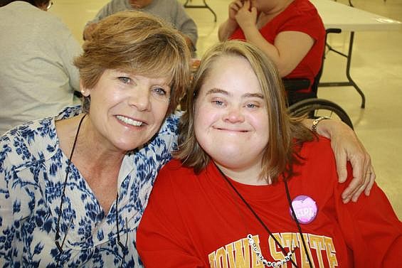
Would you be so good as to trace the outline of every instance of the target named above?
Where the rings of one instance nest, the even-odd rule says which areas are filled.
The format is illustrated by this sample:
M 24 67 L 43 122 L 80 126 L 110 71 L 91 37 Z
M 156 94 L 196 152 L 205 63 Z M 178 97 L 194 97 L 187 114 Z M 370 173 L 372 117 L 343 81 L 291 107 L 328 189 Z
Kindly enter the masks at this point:
M 402 224 L 386 195 L 374 185 L 342 203 L 329 140 L 289 117 L 262 50 L 208 50 L 187 107 L 176 160 L 159 172 L 137 231 L 145 267 L 400 263 Z

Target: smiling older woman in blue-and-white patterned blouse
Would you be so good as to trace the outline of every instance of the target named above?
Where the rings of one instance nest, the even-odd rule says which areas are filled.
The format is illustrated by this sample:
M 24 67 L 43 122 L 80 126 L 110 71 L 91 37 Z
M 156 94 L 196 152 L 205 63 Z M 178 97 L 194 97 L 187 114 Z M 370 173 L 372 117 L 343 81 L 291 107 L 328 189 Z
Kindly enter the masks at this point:
M 0 139 L 6 266 L 142 266 L 136 230 L 154 178 L 176 146 L 178 117 L 171 112 L 189 82 L 189 49 L 181 33 L 134 11 L 100 21 L 93 37 L 75 60 L 83 107 Z M 318 130 L 337 132 L 335 144 L 351 137 L 337 152 L 365 155 L 350 129 L 326 121 Z M 356 164 L 356 171 L 366 168 Z M 356 180 L 349 193 L 361 183 L 370 185 Z

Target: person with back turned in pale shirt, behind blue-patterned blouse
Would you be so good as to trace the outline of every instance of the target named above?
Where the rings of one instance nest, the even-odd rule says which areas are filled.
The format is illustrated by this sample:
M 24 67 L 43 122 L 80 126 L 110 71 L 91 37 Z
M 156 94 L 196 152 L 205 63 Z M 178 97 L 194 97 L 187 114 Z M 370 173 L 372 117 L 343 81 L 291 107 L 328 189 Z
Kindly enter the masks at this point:
M 74 103 L 82 49 L 49 0 L 0 0 L 0 135 Z

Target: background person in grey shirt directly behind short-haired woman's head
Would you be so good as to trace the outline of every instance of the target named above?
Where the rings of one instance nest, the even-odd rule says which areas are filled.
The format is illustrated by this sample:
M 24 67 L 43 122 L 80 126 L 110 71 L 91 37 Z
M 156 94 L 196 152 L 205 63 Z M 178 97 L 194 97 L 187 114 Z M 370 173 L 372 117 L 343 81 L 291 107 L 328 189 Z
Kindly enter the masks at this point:
M 177 0 L 112 0 L 100 9 L 92 21 L 88 21 L 84 28 L 84 39 L 90 38 L 93 28 L 100 19 L 118 11 L 132 9 L 148 12 L 171 23 L 184 34 L 190 50 L 196 50 L 198 38 L 196 23 L 186 14 L 183 5 Z

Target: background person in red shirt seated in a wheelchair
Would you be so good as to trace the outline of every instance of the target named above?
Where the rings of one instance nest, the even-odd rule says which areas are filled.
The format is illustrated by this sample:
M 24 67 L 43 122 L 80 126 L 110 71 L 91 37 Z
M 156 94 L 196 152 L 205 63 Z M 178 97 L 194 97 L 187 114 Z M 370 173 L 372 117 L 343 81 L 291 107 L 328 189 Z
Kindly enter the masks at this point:
M 280 77 L 309 79 L 310 87 L 299 92 L 311 92 L 322 65 L 325 28 L 310 1 L 233 1 L 218 36 L 253 43 L 273 60 Z M 295 101 L 290 96 L 290 104 Z

